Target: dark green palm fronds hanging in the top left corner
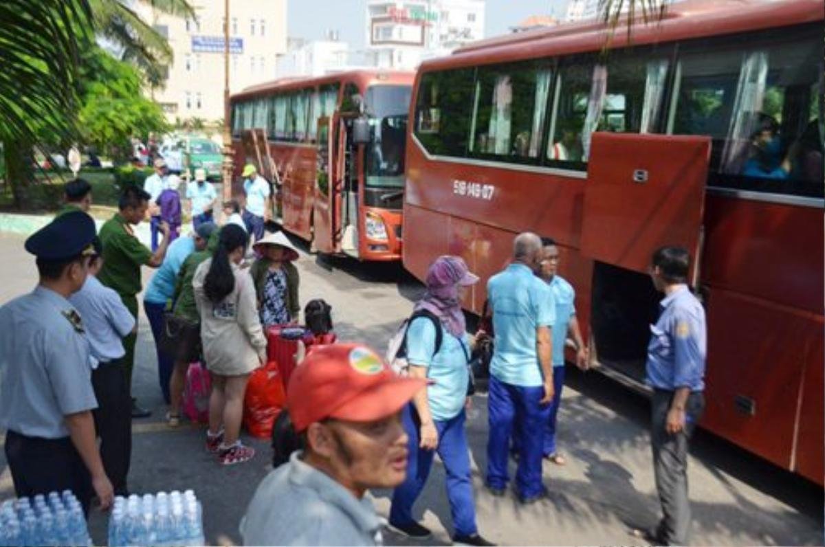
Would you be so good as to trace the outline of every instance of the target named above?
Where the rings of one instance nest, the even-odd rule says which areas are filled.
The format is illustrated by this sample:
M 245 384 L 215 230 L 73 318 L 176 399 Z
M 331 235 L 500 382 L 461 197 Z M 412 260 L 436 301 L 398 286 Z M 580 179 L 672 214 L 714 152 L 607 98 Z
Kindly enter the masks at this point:
M 88 0 L 0 2 L 0 144 L 15 204 L 25 200 L 32 145 L 74 133 L 78 50 L 92 39 Z

